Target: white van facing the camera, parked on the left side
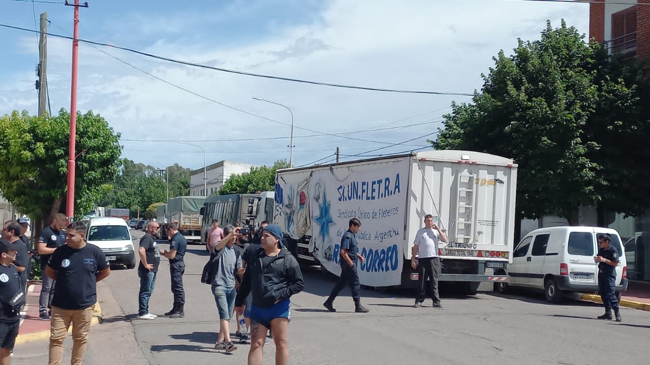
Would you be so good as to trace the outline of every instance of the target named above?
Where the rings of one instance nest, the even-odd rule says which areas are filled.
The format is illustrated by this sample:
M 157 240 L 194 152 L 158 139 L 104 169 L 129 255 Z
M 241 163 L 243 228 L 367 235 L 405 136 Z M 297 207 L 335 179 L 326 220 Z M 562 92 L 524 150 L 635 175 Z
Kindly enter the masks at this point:
M 90 218 L 86 242 L 99 247 L 111 264 L 135 268 L 133 239 L 129 225 L 122 218 Z

